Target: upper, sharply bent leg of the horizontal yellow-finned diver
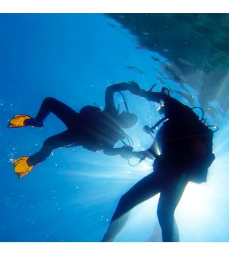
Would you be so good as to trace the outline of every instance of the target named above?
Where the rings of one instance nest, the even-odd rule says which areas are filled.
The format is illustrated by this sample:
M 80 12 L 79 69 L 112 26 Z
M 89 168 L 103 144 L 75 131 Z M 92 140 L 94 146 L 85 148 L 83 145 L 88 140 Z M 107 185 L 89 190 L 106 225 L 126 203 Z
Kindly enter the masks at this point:
M 78 113 L 68 107 L 68 105 L 52 97 L 48 97 L 43 101 L 37 116 L 33 120 L 27 120 L 27 122 L 32 123 L 34 121 L 35 123 L 42 124 L 51 112 L 54 113 L 54 115 L 56 115 L 68 128 L 73 121 L 76 122 L 78 117 Z M 29 123 L 26 123 L 26 125 L 33 125 Z

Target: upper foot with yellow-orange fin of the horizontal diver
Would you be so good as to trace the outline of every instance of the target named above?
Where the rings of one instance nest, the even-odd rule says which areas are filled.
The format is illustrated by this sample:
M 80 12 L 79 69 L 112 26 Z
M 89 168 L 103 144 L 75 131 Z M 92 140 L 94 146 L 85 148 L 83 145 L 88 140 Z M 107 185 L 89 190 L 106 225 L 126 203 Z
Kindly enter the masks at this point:
M 33 117 L 27 115 L 15 115 L 8 125 L 10 128 L 19 128 L 25 126 L 43 127 L 43 122 L 35 120 Z

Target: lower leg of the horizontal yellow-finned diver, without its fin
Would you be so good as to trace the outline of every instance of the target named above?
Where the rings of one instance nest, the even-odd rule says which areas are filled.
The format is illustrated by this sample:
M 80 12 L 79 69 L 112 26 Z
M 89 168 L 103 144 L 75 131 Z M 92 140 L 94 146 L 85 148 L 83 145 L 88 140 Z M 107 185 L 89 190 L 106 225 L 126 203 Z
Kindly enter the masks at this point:
M 27 164 L 29 166 L 35 166 L 35 164 L 43 162 L 48 156 L 50 156 L 54 149 L 65 147 L 70 144 L 77 145 L 77 137 L 68 130 L 49 137 L 44 141 L 41 150 L 29 157 Z

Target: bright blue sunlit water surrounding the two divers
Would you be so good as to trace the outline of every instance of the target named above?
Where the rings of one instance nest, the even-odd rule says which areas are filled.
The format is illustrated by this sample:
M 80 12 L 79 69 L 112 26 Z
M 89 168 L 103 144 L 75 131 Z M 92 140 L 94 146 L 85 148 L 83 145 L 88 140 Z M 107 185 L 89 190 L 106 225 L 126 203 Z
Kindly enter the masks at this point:
M 1 14 L 0 44 L 0 241 L 99 242 L 120 196 L 152 171 L 152 162 L 131 167 L 120 156 L 62 148 L 18 179 L 12 159 L 37 152 L 65 126 L 54 115 L 43 129 L 8 129 L 9 120 L 16 113 L 35 116 L 49 96 L 76 111 L 94 103 L 104 107 L 105 88 L 123 81 L 134 80 L 144 89 L 154 83 L 155 90 L 168 86 L 173 97 L 192 107 L 200 105 L 198 92 L 188 84 L 184 90 L 166 74 L 159 79 L 160 62 L 167 60 L 136 47 L 137 38 L 102 14 Z M 159 118 L 155 104 L 124 94 L 139 116 L 136 127 L 126 132 L 135 150 L 146 149 L 152 138 L 142 128 Z M 124 109 L 120 95 L 115 101 Z M 229 112 L 220 115 L 217 101 L 211 106 L 217 115 L 207 115 L 207 120 L 220 128 L 214 134 L 216 160 L 207 183 L 189 183 L 177 207 L 182 242 L 229 241 Z M 115 241 L 160 241 L 160 231 L 153 235 L 157 200 L 134 208 Z

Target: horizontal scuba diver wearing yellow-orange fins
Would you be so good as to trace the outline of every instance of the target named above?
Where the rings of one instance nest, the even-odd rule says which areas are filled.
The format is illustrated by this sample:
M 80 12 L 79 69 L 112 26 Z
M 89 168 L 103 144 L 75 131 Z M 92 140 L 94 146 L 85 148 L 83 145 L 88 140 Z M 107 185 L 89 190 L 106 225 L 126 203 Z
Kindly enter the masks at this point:
M 106 155 L 120 155 L 120 152 L 128 147 L 114 148 L 114 146 L 119 140 L 123 140 L 125 144 L 124 140 L 129 139 L 123 128 L 133 127 L 137 123 L 137 116 L 129 113 L 125 99 L 126 111 L 119 113 L 115 107 L 114 95 L 115 92 L 130 90 L 131 87 L 132 82 L 108 86 L 105 91 L 104 111 L 97 106 L 85 106 L 78 113 L 64 103 L 48 97 L 43 101 L 35 118 L 15 115 L 10 120 L 10 128 L 43 127 L 45 118 L 51 112 L 67 127 L 66 131 L 46 139 L 39 152 L 15 159 L 13 162 L 15 173 L 19 178 L 29 174 L 36 164 L 43 162 L 54 149 L 60 147 L 82 146 L 94 152 L 102 149 Z

